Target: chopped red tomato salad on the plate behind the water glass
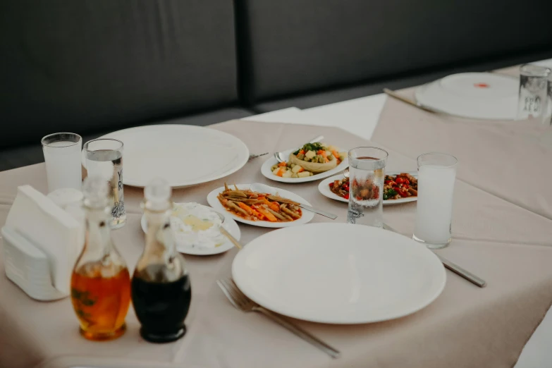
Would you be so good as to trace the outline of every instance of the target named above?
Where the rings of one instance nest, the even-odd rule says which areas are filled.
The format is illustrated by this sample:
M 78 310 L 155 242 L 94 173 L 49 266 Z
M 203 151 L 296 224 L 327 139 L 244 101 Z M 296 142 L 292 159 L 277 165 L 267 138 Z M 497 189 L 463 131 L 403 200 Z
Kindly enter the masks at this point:
M 353 183 L 354 184 L 354 183 Z M 349 178 L 334 180 L 329 183 L 330 190 L 339 197 L 349 199 L 350 183 Z M 370 190 L 369 192 L 378 192 L 379 190 Z M 359 192 L 359 191 L 357 191 Z M 405 197 L 417 197 L 418 180 L 409 173 L 400 173 L 398 175 L 386 175 L 384 180 L 384 200 L 399 200 Z M 373 196 L 371 197 L 372 199 Z M 377 199 L 377 198 L 375 198 Z

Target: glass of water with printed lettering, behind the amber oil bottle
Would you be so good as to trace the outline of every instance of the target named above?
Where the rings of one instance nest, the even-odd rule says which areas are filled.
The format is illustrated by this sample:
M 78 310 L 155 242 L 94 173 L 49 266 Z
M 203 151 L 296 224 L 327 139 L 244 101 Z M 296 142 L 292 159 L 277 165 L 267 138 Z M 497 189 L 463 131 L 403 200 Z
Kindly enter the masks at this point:
M 88 176 L 100 176 L 111 186 L 113 207 L 111 228 L 122 228 L 126 222 L 123 193 L 123 142 L 101 138 L 90 140 L 82 149 Z

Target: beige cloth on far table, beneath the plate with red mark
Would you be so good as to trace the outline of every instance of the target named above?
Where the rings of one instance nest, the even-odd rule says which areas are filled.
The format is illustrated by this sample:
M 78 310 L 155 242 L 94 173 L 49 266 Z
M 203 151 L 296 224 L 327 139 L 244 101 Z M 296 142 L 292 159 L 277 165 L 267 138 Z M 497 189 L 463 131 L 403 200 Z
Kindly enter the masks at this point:
M 499 72 L 518 75 L 517 70 Z M 413 97 L 414 91 L 415 87 L 400 93 Z M 372 139 L 412 159 L 424 152 L 453 154 L 460 180 L 552 219 L 549 125 L 431 114 L 389 98 Z

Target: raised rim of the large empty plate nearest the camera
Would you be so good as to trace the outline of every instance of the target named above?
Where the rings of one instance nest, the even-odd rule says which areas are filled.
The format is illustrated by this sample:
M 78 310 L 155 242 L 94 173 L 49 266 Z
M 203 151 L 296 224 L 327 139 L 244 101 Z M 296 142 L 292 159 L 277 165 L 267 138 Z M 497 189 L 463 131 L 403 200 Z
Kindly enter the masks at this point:
M 358 226 L 358 225 L 354 225 L 354 224 L 350 224 L 350 223 L 309 223 L 306 226 L 312 227 L 312 226 L 328 226 L 328 225 L 331 226 L 331 227 Z M 374 228 L 372 226 L 364 226 L 364 227 L 368 229 L 367 231 L 387 231 L 388 233 L 393 234 L 393 236 L 396 235 L 396 236 L 406 238 L 407 240 L 412 240 L 412 239 L 409 239 L 409 238 L 405 237 L 404 235 L 401 235 L 401 234 L 398 234 L 398 233 L 393 233 L 392 231 L 384 230 L 384 229 L 381 229 L 381 228 Z M 278 231 L 287 231 L 287 230 L 288 230 L 287 228 L 278 229 Z M 429 258 L 433 259 L 433 261 L 431 261 L 431 262 L 434 262 L 435 266 L 439 268 L 439 274 L 441 275 L 441 281 L 438 283 L 438 287 L 436 288 L 436 290 L 434 290 L 434 293 L 432 293 L 431 298 L 429 298 L 429 300 L 427 300 L 426 302 L 420 303 L 419 305 L 417 305 L 414 308 L 408 309 L 407 311 L 405 311 L 403 313 L 393 315 L 393 317 L 380 317 L 380 318 L 376 318 L 376 319 L 366 319 L 366 318 L 364 318 L 364 319 L 355 319 L 355 320 L 351 320 L 351 321 L 343 321 L 343 320 L 339 320 L 339 321 L 338 320 L 332 320 L 332 321 L 330 321 L 330 319 L 319 319 L 319 318 L 305 317 L 301 314 L 290 313 L 290 312 L 288 312 L 286 310 L 282 310 L 280 308 L 267 307 L 266 305 L 263 305 L 264 303 L 259 303 L 259 299 L 255 298 L 255 295 L 251 295 L 251 293 L 249 293 L 249 290 L 247 290 L 247 288 L 240 287 L 240 284 L 242 283 L 241 276 L 239 276 L 239 271 L 235 271 L 235 270 L 238 268 L 238 263 L 240 262 L 240 259 L 242 259 L 244 257 L 247 257 L 247 254 L 249 254 L 254 247 L 258 247 L 259 244 L 262 246 L 263 243 L 266 243 L 266 242 L 263 242 L 262 240 L 264 240 L 264 238 L 268 238 L 269 236 L 274 236 L 273 233 L 274 233 L 274 231 L 271 231 L 269 233 L 265 233 L 265 234 L 263 234 L 263 235 L 261 235 L 257 238 L 254 238 L 253 240 L 250 241 L 250 243 L 247 243 L 247 245 L 245 245 L 244 249 L 241 252 L 238 252 L 238 254 L 236 254 L 236 256 L 234 257 L 233 262 L 232 262 L 231 274 L 232 274 L 232 278 L 233 278 L 236 286 L 238 286 L 238 288 L 248 298 L 250 298 L 254 302 L 257 302 L 257 304 L 262 305 L 262 307 L 265 307 L 266 309 L 270 309 L 273 312 L 276 312 L 278 314 L 282 314 L 282 315 L 287 316 L 287 317 L 300 319 L 302 321 L 311 321 L 311 322 L 322 323 L 322 324 L 336 324 L 336 325 L 372 324 L 372 323 L 381 322 L 381 321 L 389 321 L 389 320 L 398 319 L 398 318 L 401 318 L 401 317 L 406 317 L 410 314 L 414 314 L 414 313 L 419 312 L 420 310 L 424 309 L 425 307 L 431 305 L 431 303 L 434 302 L 439 297 L 439 295 L 441 295 L 441 293 L 443 293 L 443 290 L 446 286 L 447 276 L 446 276 L 445 267 L 443 266 L 441 261 L 438 259 L 436 254 L 434 254 L 434 252 L 431 252 L 431 250 L 429 250 L 423 244 L 417 243 L 417 242 L 415 242 L 415 240 L 412 240 L 412 242 L 415 242 L 417 244 L 416 246 L 419 248 L 420 252 L 424 252 L 424 250 L 425 250 L 425 251 L 427 251 L 426 254 L 431 254 L 431 255 L 429 255 Z M 257 243 L 254 244 L 253 247 L 250 247 L 250 245 L 254 242 L 257 242 Z M 235 276 L 236 274 L 238 274 L 238 278 L 236 278 L 236 276 Z

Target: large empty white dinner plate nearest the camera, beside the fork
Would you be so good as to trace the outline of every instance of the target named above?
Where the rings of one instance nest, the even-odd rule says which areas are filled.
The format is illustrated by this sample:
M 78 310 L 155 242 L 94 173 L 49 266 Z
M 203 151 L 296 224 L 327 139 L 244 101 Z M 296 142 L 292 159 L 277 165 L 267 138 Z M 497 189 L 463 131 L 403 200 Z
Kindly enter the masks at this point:
M 271 231 L 235 256 L 233 279 L 263 307 L 306 321 L 362 324 L 433 302 L 446 282 L 424 245 L 371 226 L 312 223 Z

